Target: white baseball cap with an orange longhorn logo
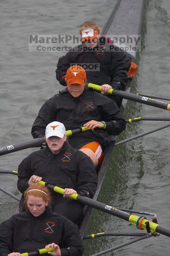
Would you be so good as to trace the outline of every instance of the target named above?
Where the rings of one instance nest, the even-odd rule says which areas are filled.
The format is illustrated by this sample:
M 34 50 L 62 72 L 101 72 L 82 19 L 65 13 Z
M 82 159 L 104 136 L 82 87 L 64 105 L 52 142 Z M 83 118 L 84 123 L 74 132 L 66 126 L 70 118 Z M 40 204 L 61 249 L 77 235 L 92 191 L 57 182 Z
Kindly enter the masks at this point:
M 57 136 L 59 138 L 63 138 L 64 135 L 65 135 L 64 124 L 54 121 L 46 126 L 46 129 L 45 129 L 46 139 L 51 136 Z

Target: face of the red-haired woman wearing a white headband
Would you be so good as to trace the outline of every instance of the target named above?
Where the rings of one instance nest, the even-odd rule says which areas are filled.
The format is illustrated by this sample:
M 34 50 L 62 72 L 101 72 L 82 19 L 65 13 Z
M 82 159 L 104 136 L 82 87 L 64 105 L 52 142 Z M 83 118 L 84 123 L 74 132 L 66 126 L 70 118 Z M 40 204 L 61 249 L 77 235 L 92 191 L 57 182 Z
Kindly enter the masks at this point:
M 45 207 L 48 206 L 42 197 L 28 196 L 27 206 L 34 217 L 38 217 L 45 211 Z

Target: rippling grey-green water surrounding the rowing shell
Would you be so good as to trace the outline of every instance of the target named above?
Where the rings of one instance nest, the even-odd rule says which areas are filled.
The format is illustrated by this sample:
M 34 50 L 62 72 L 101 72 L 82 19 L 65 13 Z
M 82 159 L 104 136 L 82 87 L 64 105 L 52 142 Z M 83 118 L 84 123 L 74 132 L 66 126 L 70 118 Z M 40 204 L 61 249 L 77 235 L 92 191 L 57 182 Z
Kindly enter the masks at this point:
M 56 82 L 59 53 L 28 50 L 29 34 L 66 34 L 78 31 L 84 20 L 104 26 L 116 1 L 1 1 L 0 145 L 31 139 L 39 108 L 63 87 Z M 108 11 L 109 10 L 109 11 Z M 170 2 L 150 0 L 143 26 L 138 73 L 131 92 L 170 96 Z M 64 53 L 65 54 L 65 53 Z M 169 117 L 166 110 L 128 102 L 125 119 L 137 116 Z M 159 127 L 165 122 L 127 124 L 118 140 Z M 117 146 L 110 158 L 98 200 L 112 206 L 156 213 L 160 226 L 170 229 L 169 128 Z M 31 151 L 1 156 L 1 169 L 14 170 Z M 17 178 L 0 174 L 0 186 L 15 195 Z M 17 203 L 0 192 L 0 222 L 15 213 Z M 128 222 L 94 211 L 87 234 L 99 231 L 137 231 Z M 84 255 L 102 251 L 129 238 L 96 238 L 85 244 Z M 126 246 L 107 255 L 169 255 L 169 238 L 161 235 Z

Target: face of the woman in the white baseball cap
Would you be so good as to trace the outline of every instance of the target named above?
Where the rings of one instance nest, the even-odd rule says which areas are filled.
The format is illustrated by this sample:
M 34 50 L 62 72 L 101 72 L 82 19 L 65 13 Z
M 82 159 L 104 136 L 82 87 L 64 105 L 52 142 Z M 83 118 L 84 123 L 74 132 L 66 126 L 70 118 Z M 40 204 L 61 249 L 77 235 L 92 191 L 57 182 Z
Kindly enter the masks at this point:
M 57 136 L 51 136 L 46 139 L 49 149 L 53 154 L 58 154 L 63 147 L 64 142 L 67 140 L 67 136 L 63 136 L 63 138 L 59 138 Z

